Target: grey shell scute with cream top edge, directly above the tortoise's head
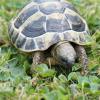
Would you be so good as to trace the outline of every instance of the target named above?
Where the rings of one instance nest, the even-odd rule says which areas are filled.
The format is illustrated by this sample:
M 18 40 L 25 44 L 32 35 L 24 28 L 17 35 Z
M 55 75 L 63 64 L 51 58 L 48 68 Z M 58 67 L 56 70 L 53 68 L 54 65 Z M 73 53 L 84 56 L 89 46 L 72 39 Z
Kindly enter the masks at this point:
M 71 29 L 65 16 L 57 13 L 48 17 L 46 27 L 47 32 L 64 32 Z

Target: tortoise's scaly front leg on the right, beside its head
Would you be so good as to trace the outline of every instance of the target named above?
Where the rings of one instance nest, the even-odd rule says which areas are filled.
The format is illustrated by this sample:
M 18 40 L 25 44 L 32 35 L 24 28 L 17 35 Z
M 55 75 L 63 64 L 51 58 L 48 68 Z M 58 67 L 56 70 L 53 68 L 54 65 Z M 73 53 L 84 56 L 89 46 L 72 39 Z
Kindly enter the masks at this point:
M 75 49 L 76 49 L 77 56 L 80 62 L 82 63 L 82 75 L 86 75 L 88 74 L 88 68 L 87 68 L 88 58 L 87 58 L 86 51 L 84 47 L 80 45 L 76 45 Z

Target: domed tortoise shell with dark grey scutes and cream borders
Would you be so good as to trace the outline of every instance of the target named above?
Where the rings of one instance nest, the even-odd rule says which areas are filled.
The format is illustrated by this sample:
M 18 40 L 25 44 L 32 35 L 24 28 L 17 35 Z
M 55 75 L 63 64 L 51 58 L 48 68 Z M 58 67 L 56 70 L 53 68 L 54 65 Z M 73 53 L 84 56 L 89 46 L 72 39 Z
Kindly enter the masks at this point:
M 86 21 L 64 0 L 32 0 L 10 22 L 9 36 L 24 52 L 43 51 L 60 41 L 90 43 Z

